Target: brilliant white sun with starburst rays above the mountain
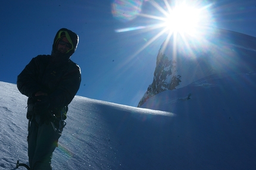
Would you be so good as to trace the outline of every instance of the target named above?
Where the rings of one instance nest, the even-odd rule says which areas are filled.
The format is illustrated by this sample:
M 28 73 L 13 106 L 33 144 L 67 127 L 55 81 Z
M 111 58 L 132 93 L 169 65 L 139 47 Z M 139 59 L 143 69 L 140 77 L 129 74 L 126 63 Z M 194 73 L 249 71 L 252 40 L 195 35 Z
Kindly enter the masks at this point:
M 141 17 L 152 18 L 158 21 L 163 21 L 160 24 L 153 24 L 148 26 L 138 26 L 138 27 L 128 27 L 124 29 L 117 29 L 115 32 L 129 32 L 133 30 L 141 30 L 141 29 L 159 29 L 163 28 L 161 32 L 156 34 L 152 39 L 148 40 L 148 42 L 139 49 L 138 54 L 147 46 L 149 46 L 152 42 L 154 42 L 158 37 L 160 37 L 164 33 L 168 33 L 167 40 L 170 39 L 172 34 L 181 34 L 183 38 L 185 38 L 185 34 L 190 34 L 196 38 L 200 38 L 200 34 L 203 35 L 205 32 L 205 28 L 210 26 L 213 21 L 211 18 L 210 11 L 208 10 L 211 7 L 211 4 L 201 4 L 199 2 L 203 2 L 200 0 L 189 1 L 193 2 L 186 4 L 185 1 L 177 0 L 172 1 L 173 4 L 169 4 L 168 0 L 163 0 L 164 6 L 160 6 L 155 1 L 147 1 L 151 3 L 158 11 L 160 11 L 164 17 L 159 17 L 155 15 L 149 14 L 139 14 Z M 163 5 L 163 4 L 162 4 Z M 167 10 L 166 10 L 167 9 Z

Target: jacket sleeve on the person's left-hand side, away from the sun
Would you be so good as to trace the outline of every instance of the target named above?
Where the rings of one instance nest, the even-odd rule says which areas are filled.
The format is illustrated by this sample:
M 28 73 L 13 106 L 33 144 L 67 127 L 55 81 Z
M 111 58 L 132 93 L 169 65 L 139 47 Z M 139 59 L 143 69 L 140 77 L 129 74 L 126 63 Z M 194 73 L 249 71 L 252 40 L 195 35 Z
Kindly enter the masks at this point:
M 17 88 L 21 94 L 27 97 L 34 97 L 33 95 L 41 89 L 36 81 L 36 77 L 38 77 L 39 74 L 36 59 L 37 58 L 33 58 L 17 77 Z

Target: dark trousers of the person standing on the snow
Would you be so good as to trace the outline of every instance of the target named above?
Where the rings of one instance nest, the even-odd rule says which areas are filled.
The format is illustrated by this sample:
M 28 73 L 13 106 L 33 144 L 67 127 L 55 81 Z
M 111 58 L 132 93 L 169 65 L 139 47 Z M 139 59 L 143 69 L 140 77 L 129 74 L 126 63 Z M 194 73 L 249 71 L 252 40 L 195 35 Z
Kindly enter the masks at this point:
M 39 117 L 31 119 L 29 135 L 27 136 L 29 165 L 31 169 L 52 169 L 52 152 L 57 147 L 58 138 L 60 137 L 61 134 L 54 131 L 51 122 L 48 124 L 42 123 Z

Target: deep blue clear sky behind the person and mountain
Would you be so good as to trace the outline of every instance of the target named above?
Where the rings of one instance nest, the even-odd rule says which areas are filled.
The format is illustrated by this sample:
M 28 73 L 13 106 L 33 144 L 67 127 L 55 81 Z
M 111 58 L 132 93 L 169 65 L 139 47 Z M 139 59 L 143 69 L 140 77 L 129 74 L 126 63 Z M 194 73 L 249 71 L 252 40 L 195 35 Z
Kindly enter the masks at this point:
M 71 56 L 82 69 L 77 95 L 137 106 L 152 83 L 158 49 L 166 34 L 138 53 L 162 29 L 115 30 L 159 23 L 136 17 L 136 10 L 129 8 L 133 4 L 142 14 L 163 17 L 149 1 L 2 2 L 0 81 L 16 83 L 17 75 L 33 57 L 51 53 L 55 33 L 65 27 L 79 34 L 80 39 Z M 163 1 L 155 2 L 164 8 Z M 209 10 L 215 21 L 213 27 L 256 37 L 255 1 L 202 2 L 212 4 Z M 111 11 L 114 4 L 118 4 L 117 11 Z

